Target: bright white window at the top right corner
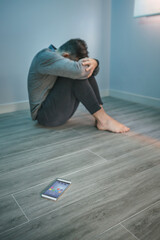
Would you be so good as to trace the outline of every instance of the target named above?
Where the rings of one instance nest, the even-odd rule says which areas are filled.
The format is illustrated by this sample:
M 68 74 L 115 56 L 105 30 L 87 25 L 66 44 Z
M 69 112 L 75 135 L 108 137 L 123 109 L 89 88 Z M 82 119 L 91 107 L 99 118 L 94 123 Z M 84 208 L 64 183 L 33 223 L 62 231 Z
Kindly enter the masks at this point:
M 134 17 L 154 16 L 160 14 L 160 0 L 135 0 Z

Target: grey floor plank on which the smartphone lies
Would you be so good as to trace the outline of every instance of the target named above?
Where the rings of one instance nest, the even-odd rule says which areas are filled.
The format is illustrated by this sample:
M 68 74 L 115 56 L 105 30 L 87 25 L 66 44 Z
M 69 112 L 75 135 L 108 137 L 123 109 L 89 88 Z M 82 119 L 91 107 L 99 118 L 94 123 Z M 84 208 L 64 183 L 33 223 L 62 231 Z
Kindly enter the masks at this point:
M 62 178 L 69 178 L 72 185 L 65 196 L 60 198 L 56 204 L 40 197 L 40 192 L 50 181 L 22 190 L 14 196 L 28 218 L 34 219 L 39 215 L 50 212 L 51 209 L 52 211 L 56 210 L 80 199 L 83 202 L 83 198 L 92 194 L 96 196 L 97 192 L 103 191 L 103 188 L 107 189 L 114 187 L 115 184 L 123 184 L 124 181 L 134 177 L 137 173 L 143 173 L 156 166 L 160 166 L 160 151 L 150 146 L 145 149 L 145 152 L 144 149 L 140 149 L 136 153 L 131 152 L 123 156 L 121 159 L 100 161 L 96 165 L 82 169 L 82 171 L 62 175 Z M 82 194 L 82 190 L 85 194 Z

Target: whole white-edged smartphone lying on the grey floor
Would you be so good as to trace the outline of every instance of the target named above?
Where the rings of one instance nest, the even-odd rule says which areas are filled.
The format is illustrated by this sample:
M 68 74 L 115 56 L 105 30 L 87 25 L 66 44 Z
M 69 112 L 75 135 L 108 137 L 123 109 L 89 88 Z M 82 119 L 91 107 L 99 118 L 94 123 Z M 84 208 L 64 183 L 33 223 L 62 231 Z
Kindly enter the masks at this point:
M 71 181 L 58 178 L 43 191 L 41 196 L 43 198 L 57 201 L 59 197 L 69 188 L 70 185 Z

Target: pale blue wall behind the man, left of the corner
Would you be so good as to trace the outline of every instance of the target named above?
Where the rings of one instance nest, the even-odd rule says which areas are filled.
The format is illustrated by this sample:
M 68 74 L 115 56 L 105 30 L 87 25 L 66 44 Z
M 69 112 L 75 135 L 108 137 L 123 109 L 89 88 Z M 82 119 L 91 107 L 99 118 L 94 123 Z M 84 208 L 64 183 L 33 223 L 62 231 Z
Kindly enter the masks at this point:
M 108 89 L 110 0 L 1 0 L 0 34 L 0 104 L 28 100 L 27 74 L 37 51 L 77 37 L 100 60 L 97 79 Z

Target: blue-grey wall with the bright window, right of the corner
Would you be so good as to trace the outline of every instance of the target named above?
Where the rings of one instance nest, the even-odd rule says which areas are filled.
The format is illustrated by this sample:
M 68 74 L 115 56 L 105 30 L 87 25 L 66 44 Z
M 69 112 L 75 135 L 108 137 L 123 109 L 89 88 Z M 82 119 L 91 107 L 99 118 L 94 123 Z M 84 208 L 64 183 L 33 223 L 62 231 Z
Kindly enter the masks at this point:
M 134 0 L 112 0 L 110 89 L 160 98 L 160 16 L 133 11 Z

